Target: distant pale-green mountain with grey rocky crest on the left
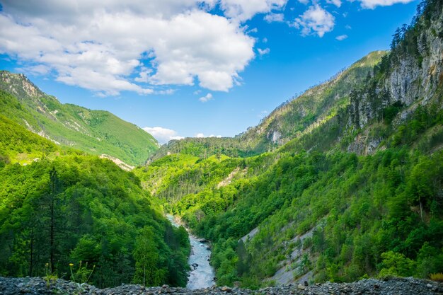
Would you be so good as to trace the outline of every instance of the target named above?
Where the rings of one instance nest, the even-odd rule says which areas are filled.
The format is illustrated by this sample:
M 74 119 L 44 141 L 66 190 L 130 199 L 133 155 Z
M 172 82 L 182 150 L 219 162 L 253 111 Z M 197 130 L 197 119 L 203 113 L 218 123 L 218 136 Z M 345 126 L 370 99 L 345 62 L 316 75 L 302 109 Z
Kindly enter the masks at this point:
M 158 149 L 151 134 L 110 112 L 62 104 L 23 74 L 0 71 L 0 114 L 56 144 L 136 166 Z

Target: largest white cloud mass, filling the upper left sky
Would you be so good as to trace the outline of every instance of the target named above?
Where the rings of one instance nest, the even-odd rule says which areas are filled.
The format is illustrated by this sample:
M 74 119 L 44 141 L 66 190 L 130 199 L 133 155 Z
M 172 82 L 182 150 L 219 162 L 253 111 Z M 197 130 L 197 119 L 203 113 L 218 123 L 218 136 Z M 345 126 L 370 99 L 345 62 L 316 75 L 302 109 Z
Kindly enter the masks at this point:
M 219 1 L 232 12 L 230 0 Z M 208 13 L 216 2 L 5 0 L 0 53 L 103 95 L 156 93 L 157 85 L 196 81 L 229 91 L 254 58 L 255 40 L 238 22 Z M 265 6 L 238 4 L 236 17 L 251 18 L 286 1 L 258 2 Z

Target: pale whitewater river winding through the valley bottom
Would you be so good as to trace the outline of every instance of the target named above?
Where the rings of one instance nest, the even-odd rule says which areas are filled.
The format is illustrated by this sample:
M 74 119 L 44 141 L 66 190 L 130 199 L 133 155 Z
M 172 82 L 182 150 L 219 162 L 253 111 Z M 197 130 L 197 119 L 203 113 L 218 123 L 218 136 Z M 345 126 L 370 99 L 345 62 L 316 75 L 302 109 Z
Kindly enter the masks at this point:
M 176 219 L 172 215 L 167 215 L 169 221 L 173 226 L 179 226 Z M 188 229 L 186 229 L 188 231 Z M 209 265 L 209 257 L 211 256 L 211 250 L 208 248 L 207 243 L 201 243 L 200 238 L 193 236 L 189 231 L 189 240 L 191 243 L 191 255 L 189 256 L 188 263 L 191 267 L 191 272 L 188 277 L 188 289 L 202 289 L 214 286 L 214 268 Z

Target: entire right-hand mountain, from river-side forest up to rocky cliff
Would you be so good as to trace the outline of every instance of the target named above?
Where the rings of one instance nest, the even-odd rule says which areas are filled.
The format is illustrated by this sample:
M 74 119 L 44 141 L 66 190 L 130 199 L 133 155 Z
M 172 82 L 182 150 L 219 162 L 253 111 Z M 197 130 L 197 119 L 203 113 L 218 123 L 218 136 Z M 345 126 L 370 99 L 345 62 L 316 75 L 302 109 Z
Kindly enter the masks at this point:
M 217 284 L 443 272 L 443 1 L 390 52 L 229 139 L 171 141 L 134 170 L 212 241 Z

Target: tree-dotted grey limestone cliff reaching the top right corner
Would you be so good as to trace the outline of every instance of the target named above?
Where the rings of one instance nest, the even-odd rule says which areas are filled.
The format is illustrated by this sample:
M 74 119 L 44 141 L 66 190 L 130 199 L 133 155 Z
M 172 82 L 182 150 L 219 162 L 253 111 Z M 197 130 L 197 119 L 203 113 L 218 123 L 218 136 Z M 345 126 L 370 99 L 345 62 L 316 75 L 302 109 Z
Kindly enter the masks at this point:
M 351 93 L 347 129 L 364 129 L 383 119 L 383 110 L 402 105 L 393 124 L 408 117 L 418 104 L 435 102 L 442 108 L 443 1 L 422 13 L 386 59 L 374 68 L 365 85 Z M 438 103 L 438 101 L 440 102 Z M 381 138 L 367 133 L 355 137 L 347 151 L 372 154 Z

